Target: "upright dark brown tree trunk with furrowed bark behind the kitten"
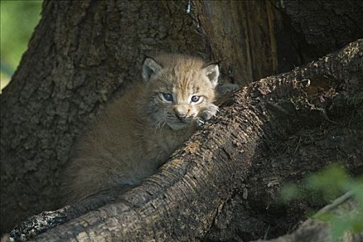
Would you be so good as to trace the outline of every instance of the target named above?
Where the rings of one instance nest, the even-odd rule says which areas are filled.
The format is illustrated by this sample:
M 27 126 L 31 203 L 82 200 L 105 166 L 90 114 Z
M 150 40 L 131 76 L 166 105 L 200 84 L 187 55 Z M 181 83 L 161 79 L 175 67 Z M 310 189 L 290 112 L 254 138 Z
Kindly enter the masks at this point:
M 325 46 L 324 38 L 311 42 L 308 31 L 299 32 L 297 27 L 306 30 L 311 23 L 301 21 L 306 15 L 292 11 L 299 9 L 295 3 L 226 2 L 191 1 L 190 13 L 188 1 L 44 2 L 29 48 L 1 94 L 2 232 L 26 216 L 57 208 L 59 174 L 75 137 L 108 100 L 139 80 L 142 52 L 167 50 L 226 59 L 222 67 L 229 81 L 245 84 L 304 63 L 302 50 Z M 339 35 L 339 45 L 331 49 L 362 33 L 362 18 L 355 15 L 361 6 L 359 1 L 339 5 L 344 14 L 337 17 L 346 19 L 342 26 L 354 35 Z M 215 14 L 205 12 L 208 9 Z M 223 11 L 232 13 L 232 28 L 219 38 L 216 31 L 229 21 Z M 256 15 L 249 15 L 251 11 Z M 331 8 L 322 11 L 331 18 Z M 297 24 L 285 26 L 290 19 Z M 230 41 L 238 23 L 247 27 Z M 221 51 L 225 43 L 236 49 Z

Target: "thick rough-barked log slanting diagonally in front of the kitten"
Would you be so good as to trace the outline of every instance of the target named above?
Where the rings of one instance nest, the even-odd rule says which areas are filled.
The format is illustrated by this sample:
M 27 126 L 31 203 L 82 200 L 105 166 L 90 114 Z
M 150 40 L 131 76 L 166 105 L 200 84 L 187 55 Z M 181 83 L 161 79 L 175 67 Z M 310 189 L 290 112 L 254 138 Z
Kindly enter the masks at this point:
M 350 171 L 363 167 L 362 70 L 359 40 L 339 53 L 232 93 L 221 101 L 218 117 L 156 175 L 125 194 L 106 192 L 111 203 L 78 218 L 61 212 L 61 222 L 68 222 L 35 241 L 261 238 L 266 227 L 288 218 L 289 212 L 297 213 L 296 218 L 308 210 L 294 205 L 282 212 L 274 209 L 281 183 L 292 177 L 299 180 L 335 160 Z M 319 138 L 306 138 L 304 131 Z M 296 144 L 289 141 L 297 137 Z M 234 202 L 237 195 L 243 198 L 240 204 Z M 239 212 L 238 218 L 234 212 Z M 221 233 L 231 224 L 234 230 L 237 226 L 237 234 Z M 272 231 L 269 236 L 282 231 L 286 232 Z

